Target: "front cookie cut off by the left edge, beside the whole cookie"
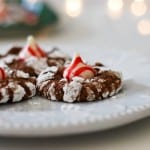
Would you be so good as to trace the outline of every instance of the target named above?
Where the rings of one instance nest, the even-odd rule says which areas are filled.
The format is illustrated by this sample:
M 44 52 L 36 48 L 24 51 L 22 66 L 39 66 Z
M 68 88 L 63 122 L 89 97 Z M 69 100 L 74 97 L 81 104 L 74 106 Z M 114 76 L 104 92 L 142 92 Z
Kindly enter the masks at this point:
M 22 71 L 7 73 L 0 68 L 0 103 L 13 103 L 32 98 L 36 94 L 36 79 Z

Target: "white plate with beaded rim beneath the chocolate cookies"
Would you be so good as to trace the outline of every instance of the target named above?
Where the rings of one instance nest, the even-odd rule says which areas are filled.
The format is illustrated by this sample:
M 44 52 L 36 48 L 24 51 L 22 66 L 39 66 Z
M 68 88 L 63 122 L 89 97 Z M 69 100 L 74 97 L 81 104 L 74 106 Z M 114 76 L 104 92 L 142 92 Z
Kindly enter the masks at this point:
M 93 56 L 93 60 L 96 57 Z M 150 61 L 127 51 L 101 51 L 99 57 L 113 69 L 122 71 L 121 93 L 105 101 L 89 103 L 50 102 L 35 97 L 18 104 L 2 105 L 0 135 L 58 136 L 100 131 L 149 116 Z

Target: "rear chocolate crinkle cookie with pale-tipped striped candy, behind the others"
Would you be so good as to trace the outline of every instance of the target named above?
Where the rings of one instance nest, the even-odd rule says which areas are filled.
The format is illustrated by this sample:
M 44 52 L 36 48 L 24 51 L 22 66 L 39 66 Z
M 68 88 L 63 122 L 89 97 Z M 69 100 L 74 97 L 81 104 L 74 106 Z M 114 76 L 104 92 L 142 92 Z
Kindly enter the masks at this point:
M 70 58 L 57 48 L 49 52 L 42 50 L 29 36 L 27 44 L 13 47 L 6 54 L 0 56 L 0 66 L 11 70 L 21 70 L 31 77 L 37 77 L 48 66 L 63 66 Z

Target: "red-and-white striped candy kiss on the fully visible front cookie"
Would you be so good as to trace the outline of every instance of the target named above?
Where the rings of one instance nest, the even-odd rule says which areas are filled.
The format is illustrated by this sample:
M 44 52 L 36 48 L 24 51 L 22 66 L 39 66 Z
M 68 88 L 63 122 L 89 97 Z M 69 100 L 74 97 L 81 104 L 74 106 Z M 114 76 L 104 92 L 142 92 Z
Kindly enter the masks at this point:
M 76 55 L 71 64 L 64 70 L 63 77 L 71 80 L 75 76 L 82 77 L 84 79 L 93 78 L 95 70 L 85 64 L 79 55 Z

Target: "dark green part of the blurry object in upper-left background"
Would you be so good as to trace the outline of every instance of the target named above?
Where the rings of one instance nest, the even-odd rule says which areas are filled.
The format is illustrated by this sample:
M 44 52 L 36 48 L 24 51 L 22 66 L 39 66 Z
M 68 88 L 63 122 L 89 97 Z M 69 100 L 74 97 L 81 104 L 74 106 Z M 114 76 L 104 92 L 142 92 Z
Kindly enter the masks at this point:
M 38 23 L 35 25 L 28 25 L 24 22 L 13 24 L 0 25 L 0 38 L 3 37 L 20 37 L 29 34 L 36 34 L 39 30 L 47 26 L 52 26 L 58 22 L 58 15 L 46 3 L 42 3 L 42 9 L 38 14 Z

